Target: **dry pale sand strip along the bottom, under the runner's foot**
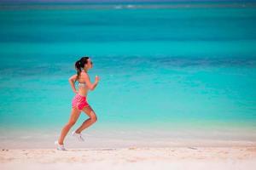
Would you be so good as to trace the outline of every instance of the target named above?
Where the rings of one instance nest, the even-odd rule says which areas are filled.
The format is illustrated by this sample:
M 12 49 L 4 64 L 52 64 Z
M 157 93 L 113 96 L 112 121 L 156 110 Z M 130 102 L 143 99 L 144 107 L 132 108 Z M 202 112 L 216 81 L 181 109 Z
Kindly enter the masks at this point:
M 0 151 L 8 169 L 255 169 L 256 145 Z

